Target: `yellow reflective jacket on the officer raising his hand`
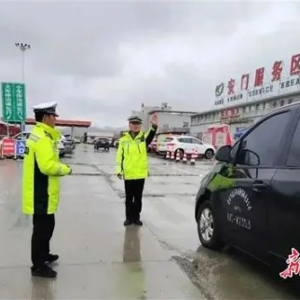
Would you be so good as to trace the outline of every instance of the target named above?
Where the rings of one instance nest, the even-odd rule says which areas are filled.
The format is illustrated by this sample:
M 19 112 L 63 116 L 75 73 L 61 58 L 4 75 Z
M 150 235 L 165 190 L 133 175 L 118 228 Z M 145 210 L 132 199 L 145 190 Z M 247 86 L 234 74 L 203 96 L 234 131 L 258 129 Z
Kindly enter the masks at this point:
M 151 143 L 156 128 L 151 127 L 147 133 L 140 131 L 134 138 L 129 132 L 126 132 L 120 138 L 117 151 L 116 173 L 122 174 L 125 180 L 144 179 L 148 177 L 147 142 Z M 150 135 L 152 138 L 149 140 Z

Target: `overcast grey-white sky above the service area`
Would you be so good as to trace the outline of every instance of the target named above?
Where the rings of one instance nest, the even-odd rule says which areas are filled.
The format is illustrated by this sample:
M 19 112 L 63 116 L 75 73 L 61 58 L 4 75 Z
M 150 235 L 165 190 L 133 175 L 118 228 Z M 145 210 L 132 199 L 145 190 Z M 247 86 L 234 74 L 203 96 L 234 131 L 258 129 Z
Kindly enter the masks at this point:
M 122 126 L 142 102 L 208 110 L 218 83 L 288 68 L 299 28 L 296 2 L 1 1 L 0 78 L 21 80 L 15 42 L 29 43 L 28 107 L 57 101 L 61 118 Z

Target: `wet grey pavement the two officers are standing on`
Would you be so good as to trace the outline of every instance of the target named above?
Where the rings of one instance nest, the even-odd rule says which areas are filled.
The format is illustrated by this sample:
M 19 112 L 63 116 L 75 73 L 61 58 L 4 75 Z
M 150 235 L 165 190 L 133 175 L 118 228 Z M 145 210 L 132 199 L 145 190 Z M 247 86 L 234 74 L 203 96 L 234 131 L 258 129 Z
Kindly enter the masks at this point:
M 20 211 L 22 161 L 0 161 L 0 299 L 291 299 L 290 286 L 237 251 L 199 246 L 194 198 L 210 167 L 151 158 L 141 228 L 123 227 L 115 152 L 64 159 L 52 252 L 56 280 L 31 278 L 31 219 Z

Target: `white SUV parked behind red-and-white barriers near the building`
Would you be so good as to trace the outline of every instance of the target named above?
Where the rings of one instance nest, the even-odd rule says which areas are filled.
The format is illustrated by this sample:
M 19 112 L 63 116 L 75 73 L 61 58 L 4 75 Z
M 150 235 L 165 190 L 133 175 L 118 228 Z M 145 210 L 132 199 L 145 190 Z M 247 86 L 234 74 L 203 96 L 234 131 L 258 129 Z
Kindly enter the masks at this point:
M 182 157 L 184 152 L 191 153 L 193 150 L 207 159 L 212 158 L 216 152 L 213 145 L 203 143 L 201 140 L 188 135 L 166 137 L 157 144 L 156 152 L 158 154 L 165 154 L 167 151 L 174 151 L 176 155 L 179 151 Z

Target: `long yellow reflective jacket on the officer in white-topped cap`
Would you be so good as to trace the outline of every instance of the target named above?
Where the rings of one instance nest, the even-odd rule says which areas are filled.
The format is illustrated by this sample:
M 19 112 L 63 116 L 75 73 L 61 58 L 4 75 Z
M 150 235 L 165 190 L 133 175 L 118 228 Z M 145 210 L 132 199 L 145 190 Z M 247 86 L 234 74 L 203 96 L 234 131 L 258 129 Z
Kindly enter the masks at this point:
M 60 163 L 58 130 L 44 123 L 34 126 L 26 141 L 23 161 L 24 214 L 54 214 L 59 203 L 60 176 L 70 168 Z

